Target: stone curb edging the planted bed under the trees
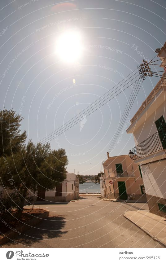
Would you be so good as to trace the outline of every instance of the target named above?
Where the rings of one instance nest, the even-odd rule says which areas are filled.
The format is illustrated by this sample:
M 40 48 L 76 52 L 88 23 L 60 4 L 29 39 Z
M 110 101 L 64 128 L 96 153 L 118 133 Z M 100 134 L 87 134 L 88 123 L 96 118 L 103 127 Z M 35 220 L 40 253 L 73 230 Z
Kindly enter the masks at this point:
M 49 217 L 49 214 L 50 214 L 50 211 L 46 211 L 45 213 L 39 215 L 39 217 L 36 217 L 36 218 L 33 218 L 33 219 L 27 221 L 28 225 L 25 225 L 25 223 L 21 224 L 20 226 L 17 227 L 16 230 L 21 232 L 21 234 L 22 234 L 23 232 L 28 230 L 31 226 L 37 225 L 42 219 Z M 13 230 L 9 230 L 6 233 L 1 234 L 0 235 L 0 245 L 7 243 L 9 241 L 9 239 L 13 239 L 17 235 L 19 235 L 19 234 Z

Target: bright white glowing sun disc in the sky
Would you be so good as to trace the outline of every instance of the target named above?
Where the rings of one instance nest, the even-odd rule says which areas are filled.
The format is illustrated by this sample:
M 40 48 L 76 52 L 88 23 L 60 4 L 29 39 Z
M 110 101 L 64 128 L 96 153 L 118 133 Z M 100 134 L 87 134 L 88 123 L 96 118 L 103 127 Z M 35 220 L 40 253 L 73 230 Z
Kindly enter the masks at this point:
M 68 63 L 77 62 L 82 54 L 81 34 L 66 31 L 56 40 L 55 52 L 61 60 Z

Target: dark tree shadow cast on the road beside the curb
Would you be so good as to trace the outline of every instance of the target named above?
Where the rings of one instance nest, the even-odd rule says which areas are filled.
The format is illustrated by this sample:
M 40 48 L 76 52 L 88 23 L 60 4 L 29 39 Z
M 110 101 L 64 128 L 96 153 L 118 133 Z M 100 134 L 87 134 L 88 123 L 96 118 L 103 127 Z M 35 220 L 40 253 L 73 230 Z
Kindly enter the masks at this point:
M 14 243 L 20 243 L 25 246 L 33 247 L 33 243 L 40 242 L 42 239 L 55 239 L 61 237 L 68 231 L 63 231 L 66 221 L 65 217 L 51 216 L 43 219 L 37 226 L 31 227 L 20 236 L 15 237 L 13 241 L 9 241 L 7 244 L 12 247 Z M 49 246 L 48 246 L 49 247 Z

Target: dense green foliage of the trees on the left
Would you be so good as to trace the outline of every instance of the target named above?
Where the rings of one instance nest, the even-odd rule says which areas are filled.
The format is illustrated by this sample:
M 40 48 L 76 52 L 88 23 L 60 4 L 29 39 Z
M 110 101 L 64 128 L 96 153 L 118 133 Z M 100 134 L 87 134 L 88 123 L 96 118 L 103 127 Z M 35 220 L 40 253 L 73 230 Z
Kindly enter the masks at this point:
M 3 151 L 0 152 L 0 183 L 20 193 L 20 198 L 16 202 L 16 209 L 20 215 L 24 202 L 28 202 L 29 191 L 35 193 L 39 187 L 53 190 L 66 178 L 66 165 L 68 164 L 64 149 L 52 150 L 49 143 L 35 145 L 32 140 L 24 145 L 26 132 L 20 134 L 21 120 L 22 117 L 15 114 L 13 110 L 0 112 L 2 125 L 0 139 L 1 144 L 3 140 L 5 152 L 5 155 Z M 9 138 L 11 147 L 9 147 Z M 7 199 L 7 202 L 10 204 L 10 199 Z

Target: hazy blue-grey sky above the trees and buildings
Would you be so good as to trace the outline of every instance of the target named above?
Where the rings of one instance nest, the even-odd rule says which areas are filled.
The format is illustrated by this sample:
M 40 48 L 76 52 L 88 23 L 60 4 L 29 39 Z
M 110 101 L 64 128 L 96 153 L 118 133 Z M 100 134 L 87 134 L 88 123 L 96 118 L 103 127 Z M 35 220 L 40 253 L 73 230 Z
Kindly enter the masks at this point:
M 64 148 L 68 172 L 98 174 L 133 92 L 131 85 L 89 116 L 81 112 L 129 74 L 136 76 L 144 57 L 156 56 L 156 48 L 166 41 L 165 11 L 165 0 L 1 0 L 0 108 L 13 108 L 24 117 L 21 129 L 27 130 L 27 142 L 51 138 L 52 149 Z M 57 41 L 66 32 L 60 55 Z M 68 46 L 77 43 L 73 32 L 81 54 L 75 61 L 62 59 Z M 134 147 L 133 135 L 124 128 L 158 81 L 143 81 L 110 156 L 128 154 Z M 49 137 L 76 115 L 82 117 L 76 125 Z

